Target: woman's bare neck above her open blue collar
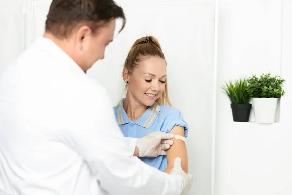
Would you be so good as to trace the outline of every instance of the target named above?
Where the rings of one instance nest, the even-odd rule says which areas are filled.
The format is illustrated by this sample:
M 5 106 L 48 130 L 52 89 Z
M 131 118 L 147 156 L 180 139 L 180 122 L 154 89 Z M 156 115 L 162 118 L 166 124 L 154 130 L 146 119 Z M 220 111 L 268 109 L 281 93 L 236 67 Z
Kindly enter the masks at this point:
M 139 104 L 134 98 L 127 94 L 123 103 L 123 108 L 130 119 L 136 120 L 146 112 L 148 106 Z

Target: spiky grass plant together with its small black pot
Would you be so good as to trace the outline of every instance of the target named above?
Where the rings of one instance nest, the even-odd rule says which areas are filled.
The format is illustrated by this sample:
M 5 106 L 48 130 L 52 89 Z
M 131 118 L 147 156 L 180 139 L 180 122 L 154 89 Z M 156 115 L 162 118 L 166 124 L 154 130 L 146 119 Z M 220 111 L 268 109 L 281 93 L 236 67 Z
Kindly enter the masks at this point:
M 248 122 L 252 105 L 249 103 L 251 97 L 248 93 L 247 80 L 245 78 L 229 80 L 222 88 L 231 102 L 233 121 Z

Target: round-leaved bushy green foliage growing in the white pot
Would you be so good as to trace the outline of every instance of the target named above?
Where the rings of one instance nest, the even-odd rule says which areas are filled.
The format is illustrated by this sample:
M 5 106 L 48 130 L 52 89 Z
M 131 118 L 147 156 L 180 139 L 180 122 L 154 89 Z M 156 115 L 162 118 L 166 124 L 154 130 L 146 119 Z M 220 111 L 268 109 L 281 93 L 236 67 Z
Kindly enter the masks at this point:
M 272 77 L 270 73 L 261 74 L 260 78 L 253 75 L 248 80 L 248 92 L 252 98 L 280 98 L 284 95 L 284 79 L 280 76 Z

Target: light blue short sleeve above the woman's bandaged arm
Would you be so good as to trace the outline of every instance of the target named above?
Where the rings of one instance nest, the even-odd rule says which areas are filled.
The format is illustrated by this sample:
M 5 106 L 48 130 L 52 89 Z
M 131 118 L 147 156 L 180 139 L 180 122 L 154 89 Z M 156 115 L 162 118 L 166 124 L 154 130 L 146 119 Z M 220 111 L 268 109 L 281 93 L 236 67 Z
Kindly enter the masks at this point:
M 169 116 L 165 118 L 164 123 L 166 124 L 166 126 L 162 128 L 161 130 L 162 132 L 169 133 L 173 127 L 180 126 L 180 127 L 184 127 L 185 129 L 184 137 L 188 136 L 189 127 L 187 123 L 184 121 L 181 111 L 176 109 L 172 114 L 170 114 Z

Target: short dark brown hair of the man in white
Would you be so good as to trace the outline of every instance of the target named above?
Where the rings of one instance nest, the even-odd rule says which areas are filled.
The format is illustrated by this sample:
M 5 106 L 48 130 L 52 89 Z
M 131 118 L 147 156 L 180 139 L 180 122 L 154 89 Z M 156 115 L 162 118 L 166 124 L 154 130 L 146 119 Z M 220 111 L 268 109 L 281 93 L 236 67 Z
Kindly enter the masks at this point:
M 87 25 L 95 33 L 112 19 L 126 19 L 123 9 L 113 0 L 53 0 L 47 15 L 47 32 L 60 39 L 66 38 L 78 25 Z

